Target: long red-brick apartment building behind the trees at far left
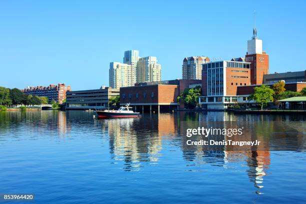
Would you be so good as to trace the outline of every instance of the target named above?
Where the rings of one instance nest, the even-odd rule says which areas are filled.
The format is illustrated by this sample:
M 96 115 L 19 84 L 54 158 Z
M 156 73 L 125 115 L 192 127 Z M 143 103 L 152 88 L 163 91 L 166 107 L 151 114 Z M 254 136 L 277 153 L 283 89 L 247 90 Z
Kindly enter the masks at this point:
M 28 95 L 46 96 L 50 103 L 52 99 L 61 104 L 66 98 L 66 91 L 70 91 L 71 87 L 64 83 L 50 84 L 49 86 L 28 86 L 21 91 Z

